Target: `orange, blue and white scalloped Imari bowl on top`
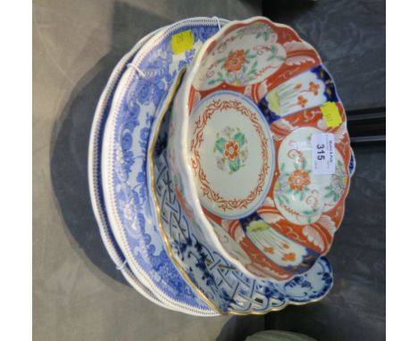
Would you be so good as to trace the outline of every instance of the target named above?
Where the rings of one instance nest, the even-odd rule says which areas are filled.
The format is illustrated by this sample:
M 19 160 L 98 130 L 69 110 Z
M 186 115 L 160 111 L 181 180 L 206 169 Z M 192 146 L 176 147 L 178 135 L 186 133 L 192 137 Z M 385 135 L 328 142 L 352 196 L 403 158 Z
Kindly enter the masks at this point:
M 239 270 L 285 281 L 328 252 L 349 186 L 346 114 L 293 29 L 256 17 L 208 39 L 168 138 L 183 210 Z

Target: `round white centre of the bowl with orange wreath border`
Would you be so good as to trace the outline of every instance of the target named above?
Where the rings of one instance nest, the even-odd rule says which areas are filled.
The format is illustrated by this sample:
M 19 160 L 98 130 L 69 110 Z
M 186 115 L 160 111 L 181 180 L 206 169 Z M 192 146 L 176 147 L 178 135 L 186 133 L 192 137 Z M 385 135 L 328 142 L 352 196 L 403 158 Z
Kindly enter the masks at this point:
M 263 203 L 272 181 L 274 145 L 267 121 L 246 96 L 220 91 L 189 118 L 188 146 L 200 203 L 226 219 Z

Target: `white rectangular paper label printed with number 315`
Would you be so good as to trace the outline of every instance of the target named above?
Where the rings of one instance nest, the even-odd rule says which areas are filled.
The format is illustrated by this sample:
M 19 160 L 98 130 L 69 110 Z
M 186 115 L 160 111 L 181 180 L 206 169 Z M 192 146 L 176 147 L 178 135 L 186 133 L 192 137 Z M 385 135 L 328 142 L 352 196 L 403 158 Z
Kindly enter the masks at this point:
M 312 147 L 312 172 L 314 174 L 335 173 L 335 143 L 334 134 L 313 134 Z

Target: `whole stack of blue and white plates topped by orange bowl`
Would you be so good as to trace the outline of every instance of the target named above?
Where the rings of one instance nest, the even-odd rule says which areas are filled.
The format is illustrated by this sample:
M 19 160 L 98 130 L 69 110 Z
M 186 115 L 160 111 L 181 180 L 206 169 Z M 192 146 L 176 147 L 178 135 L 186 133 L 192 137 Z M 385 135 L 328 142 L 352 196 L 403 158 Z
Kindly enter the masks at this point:
M 130 285 L 213 316 L 327 295 L 323 254 L 354 168 L 318 53 L 256 17 L 142 38 L 100 97 L 88 170 L 104 245 Z

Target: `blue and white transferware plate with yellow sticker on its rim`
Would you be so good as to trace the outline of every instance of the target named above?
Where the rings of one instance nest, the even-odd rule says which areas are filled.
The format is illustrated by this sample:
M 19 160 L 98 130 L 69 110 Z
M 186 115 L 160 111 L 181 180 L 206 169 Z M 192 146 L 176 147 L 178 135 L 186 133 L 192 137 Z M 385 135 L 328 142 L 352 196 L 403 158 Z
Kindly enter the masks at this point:
M 188 19 L 152 37 L 124 72 L 104 129 L 104 203 L 115 239 L 132 272 L 156 297 L 197 315 L 218 312 L 205 296 L 196 294 L 164 249 L 146 186 L 146 149 L 155 112 L 169 96 L 173 81 L 196 49 L 226 22 Z M 192 46 L 173 54 L 171 41 L 183 32 L 192 37 Z

